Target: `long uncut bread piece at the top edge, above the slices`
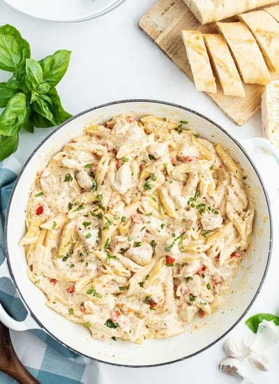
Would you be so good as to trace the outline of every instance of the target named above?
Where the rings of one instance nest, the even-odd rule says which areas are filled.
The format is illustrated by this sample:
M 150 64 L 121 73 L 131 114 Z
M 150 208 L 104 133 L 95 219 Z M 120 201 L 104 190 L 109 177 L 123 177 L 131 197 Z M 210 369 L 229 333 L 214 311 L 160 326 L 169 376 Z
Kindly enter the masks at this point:
M 201 24 L 217 22 L 239 13 L 276 3 L 274 0 L 183 0 Z

